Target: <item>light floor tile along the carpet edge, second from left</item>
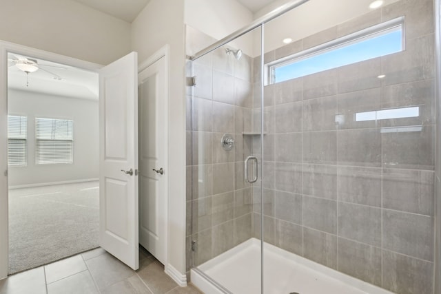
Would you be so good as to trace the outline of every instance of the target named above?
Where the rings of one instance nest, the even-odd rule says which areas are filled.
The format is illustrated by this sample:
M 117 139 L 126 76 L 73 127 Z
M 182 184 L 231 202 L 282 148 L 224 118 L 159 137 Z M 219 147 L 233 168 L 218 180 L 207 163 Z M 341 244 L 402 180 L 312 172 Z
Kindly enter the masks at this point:
M 66 258 L 65 260 L 60 260 L 52 264 L 48 264 L 44 267 L 46 274 L 46 283 L 50 284 L 52 282 L 63 279 L 64 277 L 69 277 L 81 271 L 87 270 L 83 258 L 81 255 L 75 255 L 72 258 Z

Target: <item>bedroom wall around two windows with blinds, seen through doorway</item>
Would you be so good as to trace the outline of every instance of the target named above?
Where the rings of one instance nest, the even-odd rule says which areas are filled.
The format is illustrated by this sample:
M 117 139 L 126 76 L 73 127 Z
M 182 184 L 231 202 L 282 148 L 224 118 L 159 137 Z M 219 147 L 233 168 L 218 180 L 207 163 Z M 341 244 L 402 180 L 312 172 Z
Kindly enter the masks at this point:
M 10 187 L 99 177 L 98 101 L 9 90 L 8 111 L 28 117 L 28 165 L 9 167 Z M 35 164 L 36 117 L 74 120 L 74 163 Z

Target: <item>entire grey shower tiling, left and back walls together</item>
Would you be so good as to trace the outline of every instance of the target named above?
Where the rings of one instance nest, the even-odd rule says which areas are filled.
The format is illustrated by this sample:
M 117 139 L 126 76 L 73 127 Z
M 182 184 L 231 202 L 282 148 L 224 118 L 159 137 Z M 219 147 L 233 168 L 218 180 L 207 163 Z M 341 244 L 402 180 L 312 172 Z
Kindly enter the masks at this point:
M 432 1 L 398 1 L 267 52 L 265 61 L 401 16 L 403 52 L 265 86 L 265 241 L 396 293 L 430 294 Z M 204 38 L 187 27 L 187 45 Z M 188 268 L 260 237 L 260 188 L 243 180 L 243 160 L 259 155 L 260 138 L 242 135 L 259 130 L 258 64 L 259 57 L 236 61 L 225 47 L 189 63 L 187 76 L 196 75 L 197 84 L 187 87 Z M 420 116 L 353 119 L 358 112 L 406 106 L 420 107 Z M 336 123 L 336 116 L 345 119 Z M 422 129 L 400 132 L 404 126 Z M 224 133 L 234 135 L 233 151 L 221 149 Z

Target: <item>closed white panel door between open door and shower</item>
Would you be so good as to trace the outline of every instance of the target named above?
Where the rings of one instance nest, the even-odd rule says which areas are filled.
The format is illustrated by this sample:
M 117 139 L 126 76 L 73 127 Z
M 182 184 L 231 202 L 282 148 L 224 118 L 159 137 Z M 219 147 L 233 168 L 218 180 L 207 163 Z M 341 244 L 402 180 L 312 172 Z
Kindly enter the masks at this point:
M 165 264 L 167 84 L 165 57 L 139 74 L 139 241 Z

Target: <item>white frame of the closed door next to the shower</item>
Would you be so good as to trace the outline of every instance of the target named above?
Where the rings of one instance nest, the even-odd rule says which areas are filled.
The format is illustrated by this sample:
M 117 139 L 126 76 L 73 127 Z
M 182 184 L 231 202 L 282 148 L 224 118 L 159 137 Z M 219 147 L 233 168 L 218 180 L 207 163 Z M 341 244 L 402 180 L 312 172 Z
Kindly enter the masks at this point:
M 167 146 L 165 147 L 167 150 L 167 158 L 165 158 L 164 160 L 164 169 L 166 171 L 166 175 L 168 175 L 169 169 L 169 161 L 168 158 L 170 157 L 169 154 L 169 147 L 168 147 L 168 143 L 170 142 L 169 140 L 169 134 L 170 134 L 170 129 L 169 129 L 169 108 L 170 108 L 170 96 L 169 96 L 169 85 L 170 85 L 170 75 L 169 75 L 169 65 L 170 65 L 170 46 L 169 45 L 165 45 L 163 48 L 161 48 L 160 50 L 156 51 L 154 54 L 152 54 L 152 56 L 150 56 L 147 60 L 141 62 L 138 65 L 138 74 L 143 72 L 143 70 L 145 70 L 147 67 L 149 67 L 150 65 L 152 65 L 153 63 L 155 63 L 156 61 L 158 61 L 159 59 L 163 58 L 165 59 L 165 96 L 167 97 L 167 103 L 166 103 L 166 110 L 165 110 L 165 129 L 167 129 Z M 178 283 L 180 286 L 185 286 L 187 284 L 187 277 L 183 277 L 183 275 L 174 268 L 174 266 L 172 266 L 171 264 L 169 264 L 169 244 L 170 244 L 170 236 L 169 236 L 169 232 L 170 232 L 170 216 L 169 216 L 169 211 L 170 211 L 170 196 L 169 196 L 169 185 L 170 185 L 170 181 L 168 176 L 166 176 L 164 178 L 165 180 L 165 202 L 167 203 L 167 208 L 166 208 L 166 216 L 165 216 L 165 220 L 167 221 L 167 225 L 165 226 L 165 262 L 164 262 L 164 266 L 165 266 L 165 273 L 167 273 L 167 275 L 170 275 L 170 277 L 172 277 L 172 279 Z

